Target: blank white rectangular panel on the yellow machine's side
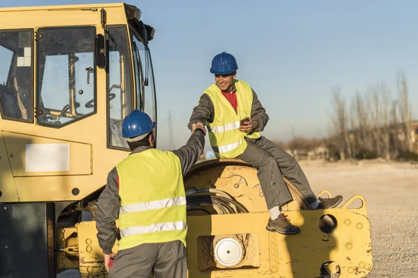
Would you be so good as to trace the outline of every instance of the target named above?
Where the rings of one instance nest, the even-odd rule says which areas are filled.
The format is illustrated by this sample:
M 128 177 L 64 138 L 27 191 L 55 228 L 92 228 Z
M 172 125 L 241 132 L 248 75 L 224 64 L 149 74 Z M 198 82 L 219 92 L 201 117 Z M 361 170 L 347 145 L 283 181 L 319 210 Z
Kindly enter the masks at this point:
M 26 144 L 25 172 L 70 171 L 70 144 Z

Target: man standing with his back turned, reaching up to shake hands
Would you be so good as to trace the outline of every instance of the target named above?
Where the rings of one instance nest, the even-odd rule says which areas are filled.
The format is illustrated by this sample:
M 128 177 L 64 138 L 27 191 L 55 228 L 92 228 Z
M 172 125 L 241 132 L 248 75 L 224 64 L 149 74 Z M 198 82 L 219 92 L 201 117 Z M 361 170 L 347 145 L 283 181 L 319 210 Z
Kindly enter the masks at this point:
M 206 131 L 198 129 L 185 146 L 163 152 L 155 149 L 154 127 L 138 110 L 125 117 L 122 135 L 132 153 L 109 172 L 98 200 L 98 240 L 109 278 L 187 277 L 183 175 L 201 156 Z M 118 218 L 121 239 L 115 256 Z

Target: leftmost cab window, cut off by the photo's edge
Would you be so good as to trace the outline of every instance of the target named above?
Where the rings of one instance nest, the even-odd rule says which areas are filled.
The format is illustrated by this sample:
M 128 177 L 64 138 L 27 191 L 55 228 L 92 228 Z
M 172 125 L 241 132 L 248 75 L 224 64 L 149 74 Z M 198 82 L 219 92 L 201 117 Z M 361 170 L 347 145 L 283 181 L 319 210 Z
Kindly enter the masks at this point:
M 3 119 L 33 121 L 32 46 L 32 31 L 0 31 L 0 111 Z

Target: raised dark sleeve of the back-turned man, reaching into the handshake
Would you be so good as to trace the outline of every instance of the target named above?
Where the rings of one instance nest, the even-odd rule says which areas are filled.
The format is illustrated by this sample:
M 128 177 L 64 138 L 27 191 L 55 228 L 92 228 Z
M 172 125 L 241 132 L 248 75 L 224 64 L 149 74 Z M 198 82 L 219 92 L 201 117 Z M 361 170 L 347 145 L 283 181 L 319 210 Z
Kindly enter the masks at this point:
M 187 140 L 186 145 L 173 151 L 180 158 L 183 176 L 199 159 L 203 153 L 203 147 L 205 147 L 205 133 L 202 129 L 196 129 L 189 140 Z

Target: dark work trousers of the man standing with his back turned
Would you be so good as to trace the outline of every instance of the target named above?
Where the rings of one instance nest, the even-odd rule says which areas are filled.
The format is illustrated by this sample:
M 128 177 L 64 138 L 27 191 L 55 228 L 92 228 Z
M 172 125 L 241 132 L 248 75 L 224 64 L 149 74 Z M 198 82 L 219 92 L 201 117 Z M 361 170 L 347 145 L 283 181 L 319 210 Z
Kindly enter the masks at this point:
M 187 255 L 180 240 L 144 243 L 116 253 L 109 278 L 186 278 Z

